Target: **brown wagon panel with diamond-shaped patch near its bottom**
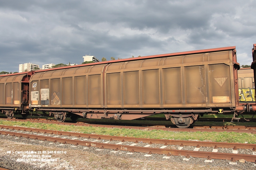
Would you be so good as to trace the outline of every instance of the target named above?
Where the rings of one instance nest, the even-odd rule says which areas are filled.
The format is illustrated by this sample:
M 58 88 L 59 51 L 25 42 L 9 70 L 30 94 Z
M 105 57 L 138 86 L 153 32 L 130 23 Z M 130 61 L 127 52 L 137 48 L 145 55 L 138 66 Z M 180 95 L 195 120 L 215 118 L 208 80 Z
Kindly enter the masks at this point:
M 51 105 L 60 105 L 60 99 L 60 78 L 51 79 Z

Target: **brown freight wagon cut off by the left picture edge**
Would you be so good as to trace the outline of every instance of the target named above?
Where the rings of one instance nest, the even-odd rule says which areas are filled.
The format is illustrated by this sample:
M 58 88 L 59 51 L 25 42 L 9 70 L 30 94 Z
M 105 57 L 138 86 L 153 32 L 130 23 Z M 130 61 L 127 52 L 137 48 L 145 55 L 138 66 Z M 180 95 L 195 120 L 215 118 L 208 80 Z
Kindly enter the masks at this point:
M 29 79 L 33 71 L 0 76 L 0 110 L 8 118 L 29 113 Z

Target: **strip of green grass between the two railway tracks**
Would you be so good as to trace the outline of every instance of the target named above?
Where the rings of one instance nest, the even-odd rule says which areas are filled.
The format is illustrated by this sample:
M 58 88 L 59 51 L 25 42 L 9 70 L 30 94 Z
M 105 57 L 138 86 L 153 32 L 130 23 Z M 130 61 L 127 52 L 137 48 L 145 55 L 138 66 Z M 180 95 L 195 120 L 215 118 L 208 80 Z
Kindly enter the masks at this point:
M 86 134 L 110 135 L 110 136 L 125 136 L 125 137 L 140 137 L 151 139 L 174 139 L 174 140 L 198 140 L 212 142 L 227 142 L 227 143 L 245 143 L 256 144 L 256 135 L 250 133 L 237 132 L 173 132 L 164 130 L 137 130 L 137 129 L 119 129 L 119 128 L 102 128 L 102 127 L 87 127 L 74 125 L 58 125 L 47 123 L 34 122 L 12 122 L 0 120 L 1 125 L 21 126 L 36 129 L 49 129 L 68 132 L 79 132 Z

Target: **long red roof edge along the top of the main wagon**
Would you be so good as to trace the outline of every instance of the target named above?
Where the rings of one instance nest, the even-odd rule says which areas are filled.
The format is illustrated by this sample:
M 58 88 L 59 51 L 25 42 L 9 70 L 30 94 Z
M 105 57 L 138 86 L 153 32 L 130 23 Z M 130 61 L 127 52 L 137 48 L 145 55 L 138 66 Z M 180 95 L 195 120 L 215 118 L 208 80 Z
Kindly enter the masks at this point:
M 160 57 L 178 56 L 178 55 L 191 55 L 191 54 L 198 54 L 198 53 L 209 53 L 209 52 L 227 51 L 227 50 L 234 50 L 234 49 L 236 49 L 236 46 L 222 47 L 222 48 L 211 48 L 211 49 L 203 49 L 203 50 L 194 50 L 194 51 L 185 51 L 185 52 L 160 54 L 160 55 L 148 55 L 148 56 L 143 56 L 143 57 L 134 57 L 134 58 L 126 58 L 126 59 L 120 59 L 120 60 L 111 60 L 111 61 L 104 61 L 104 62 L 79 64 L 79 65 L 74 65 L 74 66 L 66 66 L 66 67 L 58 67 L 58 68 L 52 68 L 52 69 L 38 70 L 38 71 L 35 71 L 35 73 L 43 72 L 43 71 L 50 71 L 50 70 L 60 70 L 60 69 L 68 69 L 68 68 L 75 68 L 75 67 L 99 65 L 99 64 L 120 63 L 120 62 L 144 60 L 144 59 L 150 59 L 150 58 L 160 58 Z

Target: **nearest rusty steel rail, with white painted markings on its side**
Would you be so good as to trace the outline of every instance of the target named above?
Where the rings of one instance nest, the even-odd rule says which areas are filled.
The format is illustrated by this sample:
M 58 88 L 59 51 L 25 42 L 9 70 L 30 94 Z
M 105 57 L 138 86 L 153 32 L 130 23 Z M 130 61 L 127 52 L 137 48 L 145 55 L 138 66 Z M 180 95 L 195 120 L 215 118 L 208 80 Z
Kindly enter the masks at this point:
M 187 150 L 173 150 L 173 149 L 160 149 L 160 148 L 146 148 L 139 146 L 126 146 L 126 145 L 118 145 L 118 144 L 104 144 L 97 142 L 88 142 L 88 141 L 80 141 L 80 140 L 72 140 L 72 139 L 62 139 L 56 137 L 45 137 L 45 136 L 37 136 L 37 135 L 29 135 L 23 133 L 16 132 L 6 132 L 0 131 L 1 134 L 4 135 L 12 135 L 17 137 L 26 137 L 36 140 L 44 140 L 51 142 L 60 142 L 63 144 L 75 144 L 75 145 L 83 145 L 88 147 L 97 147 L 101 149 L 114 149 L 116 151 L 130 151 L 130 152 L 144 152 L 148 154 L 165 154 L 165 155 L 174 155 L 174 156 L 192 156 L 197 158 L 211 158 L 211 159 L 227 159 L 227 160 L 239 160 L 244 159 L 248 162 L 254 162 L 256 160 L 256 155 L 245 155 L 245 154 L 233 154 L 233 153 L 216 153 L 216 152 L 201 152 L 201 151 L 187 151 Z

